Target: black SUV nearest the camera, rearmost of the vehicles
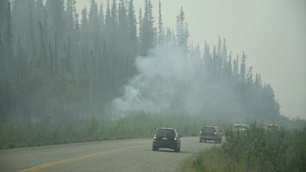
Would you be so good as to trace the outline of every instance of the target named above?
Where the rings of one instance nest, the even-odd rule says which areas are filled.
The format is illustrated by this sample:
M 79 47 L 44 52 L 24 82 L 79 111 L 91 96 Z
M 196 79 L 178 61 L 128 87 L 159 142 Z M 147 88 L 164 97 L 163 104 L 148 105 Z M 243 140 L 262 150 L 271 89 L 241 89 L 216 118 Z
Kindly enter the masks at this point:
M 181 138 L 174 128 L 158 128 L 153 136 L 152 150 L 159 148 L 174 149 L 175 152 L 181 151 Z

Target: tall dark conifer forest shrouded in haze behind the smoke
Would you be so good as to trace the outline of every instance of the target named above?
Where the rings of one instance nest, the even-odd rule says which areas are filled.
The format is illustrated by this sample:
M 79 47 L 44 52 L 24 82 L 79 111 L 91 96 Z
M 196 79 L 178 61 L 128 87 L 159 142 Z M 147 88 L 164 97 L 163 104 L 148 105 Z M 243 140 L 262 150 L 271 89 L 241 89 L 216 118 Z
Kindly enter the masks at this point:
M 169 42 L 182 47 L 186 66 L 201 67 L 203 80 L 228 85 L 246 116 L 280 116 L 273 89 L 262 84 L 260 74 L 254 76 L 244 52 L 234 58 L 220 36 L 212 50 L 205 41 L 203 54 L 199 45 L 188 46 L 183 8 L 174 32 L 163 24 L 160 3 L 155 22 L 151 0 L 144 1 L 138 17 L 133 0 L 99 5 L 90 0 L 80 15 L 76 0 L 0 3 L 1 122 L 66 124 L 88 121 L 93 114 L 108 117 L 109 104 L 137 73 L 136 56 Z

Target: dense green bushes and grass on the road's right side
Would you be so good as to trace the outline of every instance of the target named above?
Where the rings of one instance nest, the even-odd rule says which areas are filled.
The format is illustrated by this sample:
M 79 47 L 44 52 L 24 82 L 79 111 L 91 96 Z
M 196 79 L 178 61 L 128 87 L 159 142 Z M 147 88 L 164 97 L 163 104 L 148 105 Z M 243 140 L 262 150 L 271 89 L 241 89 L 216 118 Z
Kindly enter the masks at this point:
M 306 172 L 306 129 L 267 131 L 254 122 L 249 132 L 228 129 L 226 140 L 188 159 L 183 172 Z

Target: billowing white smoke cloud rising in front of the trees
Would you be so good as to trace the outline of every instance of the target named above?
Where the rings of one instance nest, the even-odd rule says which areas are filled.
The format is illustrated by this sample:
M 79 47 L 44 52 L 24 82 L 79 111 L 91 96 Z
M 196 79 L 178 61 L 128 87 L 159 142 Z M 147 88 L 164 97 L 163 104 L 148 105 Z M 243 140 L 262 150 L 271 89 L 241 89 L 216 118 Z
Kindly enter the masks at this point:
M 205 81 L 201 59 L 188 59 L 182 49 L 158 46 L 147 57 L 136 58 L 138 74 L 124 86 L 124 95 L 114 100 L 114 108 L 217 116 L 237 111 L 227 82 Z

